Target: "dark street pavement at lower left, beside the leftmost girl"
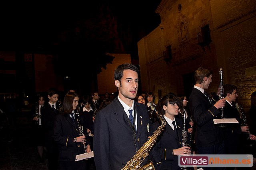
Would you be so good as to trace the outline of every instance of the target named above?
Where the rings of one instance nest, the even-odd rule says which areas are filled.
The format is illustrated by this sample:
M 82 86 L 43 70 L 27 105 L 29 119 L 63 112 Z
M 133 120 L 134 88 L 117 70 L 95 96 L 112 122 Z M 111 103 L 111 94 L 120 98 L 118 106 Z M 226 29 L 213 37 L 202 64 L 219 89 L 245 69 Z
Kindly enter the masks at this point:
M 18 112 L 15 117 L 9 127 L 10 138 L 1 134 L 0 170 L 48 170 L 46 154 L 44 162 L 39 163 L 37 148 L 31 137 L 28 112 Z

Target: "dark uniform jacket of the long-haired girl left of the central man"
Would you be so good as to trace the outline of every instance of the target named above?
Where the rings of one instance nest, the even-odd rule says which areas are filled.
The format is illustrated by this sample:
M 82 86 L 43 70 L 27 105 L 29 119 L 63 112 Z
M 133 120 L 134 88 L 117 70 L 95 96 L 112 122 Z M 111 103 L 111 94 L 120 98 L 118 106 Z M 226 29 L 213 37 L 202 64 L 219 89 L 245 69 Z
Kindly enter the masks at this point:
M 77 119 L 77 117 L 76 117 Z M 80 117 L 82 119 L 82 117 Z M 70 115 L 59 114 L 54 122 L 54 141 L 58 144 L 59 161 L 75 161 L 76 155 L 85 153 L 81 142 L 74 142 L 74 138 L 80 136 L 78 122 L 72 121 Z M 86 136 L 86 146 L 90 144 L 86 128 L 83 130 Z

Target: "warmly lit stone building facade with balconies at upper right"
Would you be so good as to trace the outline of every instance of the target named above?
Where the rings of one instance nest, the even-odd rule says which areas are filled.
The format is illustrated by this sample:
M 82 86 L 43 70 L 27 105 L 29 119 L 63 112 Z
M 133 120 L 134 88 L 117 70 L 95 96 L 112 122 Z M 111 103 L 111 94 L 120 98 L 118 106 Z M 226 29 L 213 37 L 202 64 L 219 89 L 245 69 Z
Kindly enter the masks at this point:
M 213 71 L 208 93 L 224 84 L 238 87 L 245 111 L 256 91 L 256 4 L 254 0 L 162 0 L 161 24 L 138 42 L 143 91 L 157 101 L 169 92 L 189 97 L 194 71 Z

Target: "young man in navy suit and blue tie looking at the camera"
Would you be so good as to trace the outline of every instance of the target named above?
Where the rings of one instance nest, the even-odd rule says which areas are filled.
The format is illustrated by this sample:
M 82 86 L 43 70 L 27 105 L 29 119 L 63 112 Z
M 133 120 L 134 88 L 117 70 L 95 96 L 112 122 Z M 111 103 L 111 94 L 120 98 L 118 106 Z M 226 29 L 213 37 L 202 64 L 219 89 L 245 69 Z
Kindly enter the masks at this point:
M 122 64 L 114 72 L 118 97 L 100 110 L 94 121 L 96 169 L 120 170 L 148 140 L 150 119 L 146 106 L 134 101 L 138 68 Z M 146 160 L 142 164 L 146 164 Z

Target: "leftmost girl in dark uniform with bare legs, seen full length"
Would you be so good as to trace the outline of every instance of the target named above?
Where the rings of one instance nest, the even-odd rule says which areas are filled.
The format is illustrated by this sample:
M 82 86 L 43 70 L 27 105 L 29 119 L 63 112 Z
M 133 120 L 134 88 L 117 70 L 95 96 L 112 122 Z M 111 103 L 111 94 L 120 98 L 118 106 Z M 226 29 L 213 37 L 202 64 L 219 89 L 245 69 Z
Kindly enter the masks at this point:
M 44 133 L 41 123 L 41 108 L 44 106 L 44 96 L 38 95 L 38 101 L 31 107 L 32 115 L 32 136 L 34 136 L 37 152 L 39 156 L 39 163 L 43 162 L 44 154 Z

